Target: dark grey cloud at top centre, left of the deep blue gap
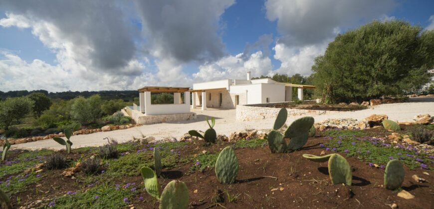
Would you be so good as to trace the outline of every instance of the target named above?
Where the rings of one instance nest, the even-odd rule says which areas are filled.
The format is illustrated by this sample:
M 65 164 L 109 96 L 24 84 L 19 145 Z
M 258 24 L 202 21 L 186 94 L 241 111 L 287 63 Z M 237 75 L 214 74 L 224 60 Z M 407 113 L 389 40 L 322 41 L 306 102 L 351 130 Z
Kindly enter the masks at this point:
M 220 15 L 234 0 L 136 0 L 152 54 L 180 62 L 224 56 Z

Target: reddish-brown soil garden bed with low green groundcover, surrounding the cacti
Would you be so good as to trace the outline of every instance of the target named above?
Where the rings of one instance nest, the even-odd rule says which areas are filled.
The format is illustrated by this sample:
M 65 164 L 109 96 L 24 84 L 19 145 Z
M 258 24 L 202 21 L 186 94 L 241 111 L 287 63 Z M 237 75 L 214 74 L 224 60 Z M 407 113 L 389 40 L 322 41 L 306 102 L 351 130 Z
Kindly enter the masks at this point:
M 393 203 L 400 208 L 430 208 L 433 205 L 433 156 L 425 151 L 416 153 L 409 147 L 393 148 L 371 142 L 387 134 L 390 132 L 384 128 L 326 130 L 309 138 L 302 149 L 284 154 L 270 153 L 264 139 L 219 142 L 212 146 L 203 146 L 203 141 L 156 145 L 131 142 L 116 145 L 121 156 L 103 160 L 97 175 L 79 172 L 74 178 L 62 177 L 63 169 L 43 168 L 38 174 L 24 173 L 54 152 L 14 150 L 8 153 L 8 161 L 0 164 L 0 188 L 12 196 L 14 206 L 28 208 L 158 208 L 158 202 L 144 191 L 139 169 L 152 167 L 152 150 L 159 149 L 163 157 L 162 177 L 158 179 L 160 191 L 173 179 L 184 181 L 189 188 L 191 208 L 389 208 L 387 204 Z M 369 154 L 365 143 L 375 147 Z M 235 148 L 239 160 L 237 181 L 230 185 L 219 184 L 213 168 L 218 153 L 226 146 Z M 320 155 L 322 151 L 325 154 L 338 152 L 348 160 L 353 170 L 352 186 L 332 185 L 327 163 L 301 157 L 305 153 Z M 72 166 L 80 159 L 95 156 L 97 148 L 74 149 L 69 155 L 64 151 L 57 153 L 66 156 Z M 398 159 L 400 156 L 406 172 L 403 186 L 397 191 L 386 190 L 383 188 L 384 169 L 371 167 L 370 163 L 381 166 L 389 157 Z M 416 159 L 422 160 L 427 168 L 421 168 L 422 163 Z M 415 182 L 414 174 L 430 183 Z M 402 189 L 415 198 L 397 197 Z M 218 191 L 222 193 L 220 202 L 216 201 Z

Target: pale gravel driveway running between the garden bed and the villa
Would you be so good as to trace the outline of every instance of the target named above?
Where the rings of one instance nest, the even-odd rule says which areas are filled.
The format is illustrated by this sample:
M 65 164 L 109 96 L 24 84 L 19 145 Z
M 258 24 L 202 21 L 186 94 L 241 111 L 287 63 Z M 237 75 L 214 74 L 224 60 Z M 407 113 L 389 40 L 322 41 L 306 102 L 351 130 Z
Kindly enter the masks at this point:
M 216 126 L 214 127 L 218 134 L 229 135 L 232 131 L 241 131 L 244 129 L 267 129 L 271 128 L 274 119 L 254 120 L 239 122 L 235 121 L 235 109 L 209 109 L 201 111 L 195 109 L 198 113 L 198 118 L 195 120 L 180 121 L 180 122 L 167 122 L 151 125 L 142 125 L 124 130 L 115 130 L 108 132 L 97 132 L 92 134 L 76 135 L 71 137 L 73 148 L 85 146 L 100 146 L 107 142 L 103 140 L 105 137 L 116 139 L 118 142 L 125 142 L 131 140 L 133 137 L 141 138 L 144 136 L 154 136 L 157 139 L 167 136 L 176 138 L 181 137 L 191 129 L 206 130 L 208 124 L 204 121 L 205 116 L 208 115 L 216 117 Z M 381 104 L 372 108 L 347 111 L 342 113 L 325 114 L 325 115 L 310 115 L 315 118 L 315 121 L 322 121 L 330 118 L 355 118 L 362 120 L 371 114 L 387 114 L 389 119 L 398 121 L 413 121 L 413 117 L 418 114 L 434 115 L 434 98 L 411 98 L 410 103 L 399 104 Z M 298 117 L 289 117 L 287 123 L 292 122 Z M 57 144 L 54 140 L 41 140 L 23 144 L 12 145 L 13 148 L 25 149 L 63 149 L 64 146 Z

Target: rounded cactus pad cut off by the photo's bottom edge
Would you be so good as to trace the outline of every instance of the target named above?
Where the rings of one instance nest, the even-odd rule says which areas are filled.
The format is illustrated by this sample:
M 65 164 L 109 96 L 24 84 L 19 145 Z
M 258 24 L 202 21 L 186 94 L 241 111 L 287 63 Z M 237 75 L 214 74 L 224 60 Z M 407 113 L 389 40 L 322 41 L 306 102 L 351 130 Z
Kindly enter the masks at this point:
M 161 193 L 160 209 L 188 209 L 189 189 L 186 183 L 173 180 Z

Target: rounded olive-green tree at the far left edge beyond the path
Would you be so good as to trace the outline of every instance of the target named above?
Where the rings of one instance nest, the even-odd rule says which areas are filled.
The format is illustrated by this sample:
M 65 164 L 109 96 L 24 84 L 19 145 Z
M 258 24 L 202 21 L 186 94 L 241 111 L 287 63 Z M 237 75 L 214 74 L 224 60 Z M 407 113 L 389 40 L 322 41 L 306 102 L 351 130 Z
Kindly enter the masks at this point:
M 33 108 L 34 102 L 27 97 L 7 98 L 0 101 L 0 127 L 8 129 L 18 124 Z

